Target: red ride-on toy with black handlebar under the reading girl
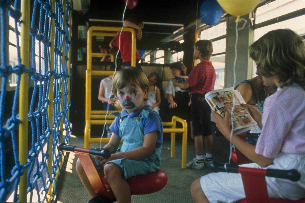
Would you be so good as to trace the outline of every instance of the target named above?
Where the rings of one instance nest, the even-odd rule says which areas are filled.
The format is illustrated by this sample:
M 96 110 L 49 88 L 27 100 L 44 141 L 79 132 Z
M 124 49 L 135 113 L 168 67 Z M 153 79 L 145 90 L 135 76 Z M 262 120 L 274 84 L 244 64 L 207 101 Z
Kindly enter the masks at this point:
M 219 163 L 213 163 L 211 168 L 214 172 L 227 171 L 232 173 L 240 173 L 242 175 L 242 183 L 246 198 L 236 201 L 238 203 L 305 203 L 305 198 L 300 200 L 287 200 L 268 197 L 265 176 L 298 181 L 300 180 L 300 173 L 295 169 L 257 169 L 233 165 L 226 165 L 225 168 L 223 164 Z

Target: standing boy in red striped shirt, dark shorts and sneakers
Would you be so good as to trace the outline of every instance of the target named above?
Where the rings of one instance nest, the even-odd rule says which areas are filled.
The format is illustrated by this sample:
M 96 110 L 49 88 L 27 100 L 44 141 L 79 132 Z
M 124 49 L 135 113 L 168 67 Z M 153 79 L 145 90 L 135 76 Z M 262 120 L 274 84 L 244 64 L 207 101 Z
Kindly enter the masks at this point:
M 216 74 L 212 62 L 213 45 L 209 40 L 199 40 L 195 44 L 194 57 L 200 63 L 196 65 L 183 83 L 173 82 L 174 86 L 191 90 L 191 113 L 194 131 L 196 158 L 187 163 L 189 168 L 203 169 L 212 163 L 212 131 L 210 125 L 211 108 L 204 95 L 214 89 Z M 205 138 L 206 155 L 202 153 L 203 138 Z

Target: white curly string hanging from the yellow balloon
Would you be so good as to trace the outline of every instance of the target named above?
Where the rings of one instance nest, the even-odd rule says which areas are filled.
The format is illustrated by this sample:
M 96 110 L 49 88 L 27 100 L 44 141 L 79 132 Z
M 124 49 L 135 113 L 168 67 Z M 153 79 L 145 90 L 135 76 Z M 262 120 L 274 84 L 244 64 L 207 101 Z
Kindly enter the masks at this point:
M 235 83 L 236 83 L 236 72 L 235 72 L 235 67 L 236 67 L 236 61 L 237 61 L 237 42 L 238 42 L 238 30 L 242 30 L 244 29 L 244 27 L 246 26 L 246 23 L 247 23 L 247 20 L 246 19 L 243 19 L 243 18 L 239 18 L 240 21 L 244 21 L 244 24 L 241 28 L 238 28 L 238 23 L 239 21 L 236 21 L 236 25 L 235 25 L 235 32 L 236 32 L 236 40 L 235 40 L 235 46 L 234 46 L 234 50 L 235 50 L 235 58 L 234 58 L 234 64 L 233 64 L 233 75 L 234 75 L 234 82 L 233 82 L 233 88 L 235 87 Z M 233 92 L 232 93 L 232 96 L 233 96 L 233 106 L 232 106 L 232 109 L 231 109 L 231 133 L 230 133 L 230 156 L 229 156 L 229 164 L 231 162 L 231 155 L 232 155 L 232 147 L 231 147 L 231 144 L 232 144 L 232 134 L 233 134 L 233 126 L 234 126 L 234 122 L 233 122 L 233 112 L 234 112 L 234 107 L 235 107 L 235 93 Z

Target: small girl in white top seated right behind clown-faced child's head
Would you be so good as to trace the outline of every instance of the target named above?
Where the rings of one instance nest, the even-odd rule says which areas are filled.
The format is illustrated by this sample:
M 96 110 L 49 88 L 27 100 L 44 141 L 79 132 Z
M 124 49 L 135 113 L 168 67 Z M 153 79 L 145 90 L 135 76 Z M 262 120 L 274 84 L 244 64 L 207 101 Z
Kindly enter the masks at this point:
M 147 105 L 159 114 L 159 106 L 161 103 L 160 89 L 156 86 L 159 76 L 156 73 L 151 73 L 147 77 L 149 81 L 148 100 Z

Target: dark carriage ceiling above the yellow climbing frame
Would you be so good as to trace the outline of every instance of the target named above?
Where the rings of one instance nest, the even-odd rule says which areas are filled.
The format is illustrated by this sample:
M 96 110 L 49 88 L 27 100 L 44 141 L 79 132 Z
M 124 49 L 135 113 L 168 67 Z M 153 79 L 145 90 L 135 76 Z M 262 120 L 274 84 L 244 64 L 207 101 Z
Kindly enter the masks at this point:
M 180 45 L 175 42 L 179 35 L 174 37 L 173 33 L 196 20 L 197 2 L 197 18 L 199 24 L 202 24 L 199 10 L 203 1 L 138 0 L 135 8 L 126 8 L 124 19 L 137 15 L 144 21 L 142 39 L 137 41 L 138 49 L 174 49 L 178 46 L 179 50 Z M 82 12 L 82 20 L 89 26 L 122 26 L 124 7 L 123 0 L 74 0 L 74 10 Z M 96 21 L 97 19 L 103 21 Z

